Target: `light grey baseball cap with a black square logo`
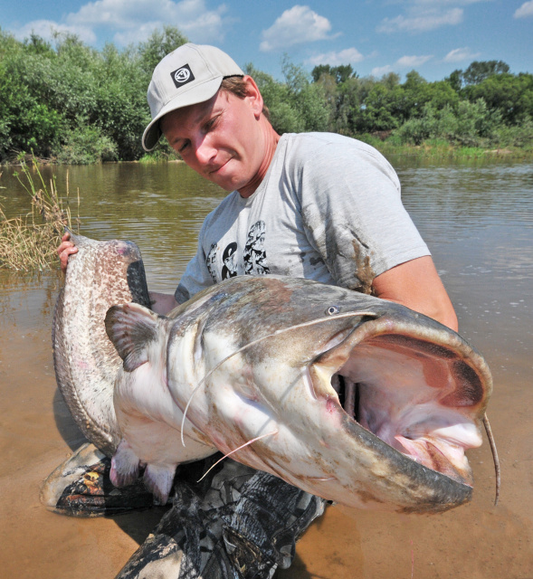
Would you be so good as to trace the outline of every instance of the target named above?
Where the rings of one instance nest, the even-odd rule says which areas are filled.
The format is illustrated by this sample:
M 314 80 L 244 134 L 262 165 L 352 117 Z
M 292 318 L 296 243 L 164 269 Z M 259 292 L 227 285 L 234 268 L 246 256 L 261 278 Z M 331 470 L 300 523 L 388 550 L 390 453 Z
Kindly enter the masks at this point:
M 142 136 L 145 151 L 161 137 L 159 119 L 171 110 L 211 99 L 227 76 L 243 76 L 233 59 L 215 46 L 186 43 L 157 64 L 148 86 L 152 120 Z

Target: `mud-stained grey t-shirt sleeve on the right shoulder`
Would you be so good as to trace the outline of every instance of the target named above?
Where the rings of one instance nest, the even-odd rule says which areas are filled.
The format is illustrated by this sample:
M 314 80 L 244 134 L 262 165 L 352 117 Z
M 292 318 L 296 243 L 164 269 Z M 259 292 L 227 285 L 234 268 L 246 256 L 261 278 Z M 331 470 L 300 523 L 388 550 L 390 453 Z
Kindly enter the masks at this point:
M 328 143 L 301 166 L 301 212 L 338 285 L 368 293 L 380 273 L 430 252 L 393 167 L 376 149 L 353 143 Z

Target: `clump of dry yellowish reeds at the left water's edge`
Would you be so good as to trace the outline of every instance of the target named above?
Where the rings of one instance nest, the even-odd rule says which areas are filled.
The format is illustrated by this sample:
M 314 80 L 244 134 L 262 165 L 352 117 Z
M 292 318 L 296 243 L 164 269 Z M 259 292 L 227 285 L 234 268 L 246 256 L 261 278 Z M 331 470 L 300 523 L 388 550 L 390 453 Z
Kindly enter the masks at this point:
M 24 157 L 20 157 L 19 161 L 21 171 L 15 176 L 28 193 L 31 208 L 27 214 L 8 219 L 0 204 L 0 268 L 43 271 L 57 263 L 56 248 L 61 243 L 65 227 L 77 231 L 80 219 L 79 216 L 71 216 L 68 176 L 63 202 L 53 179 L 46 185 L 36 166 L 35 184 Z M 79 210 L 79 191 L 77 202 Z

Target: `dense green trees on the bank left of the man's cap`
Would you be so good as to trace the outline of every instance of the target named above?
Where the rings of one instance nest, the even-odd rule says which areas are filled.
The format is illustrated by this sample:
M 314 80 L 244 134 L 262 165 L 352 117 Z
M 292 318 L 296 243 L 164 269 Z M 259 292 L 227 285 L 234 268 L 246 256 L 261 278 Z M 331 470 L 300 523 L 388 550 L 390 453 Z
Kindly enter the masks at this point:
M 21 43 L 0 31 L 0 161 L 30 149 L 75 163 L 139 158 L 152 70 L 185 42 L 166 27 L 125 51 L 99 52 L 70 33 Z

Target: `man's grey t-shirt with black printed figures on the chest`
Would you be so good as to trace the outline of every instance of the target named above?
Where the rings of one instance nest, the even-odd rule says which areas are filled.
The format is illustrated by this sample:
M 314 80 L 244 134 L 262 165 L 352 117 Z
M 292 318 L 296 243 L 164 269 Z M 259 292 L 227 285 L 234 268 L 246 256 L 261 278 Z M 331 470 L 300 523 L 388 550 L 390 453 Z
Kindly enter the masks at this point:
M 285 134 L 253 195 L 233 191 L 205 218 L 176 299 L 243 274 L 369 292 L 377 275 L 424 255 L 395 170 L 374 147 L 331 133 Z

